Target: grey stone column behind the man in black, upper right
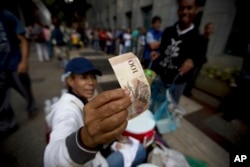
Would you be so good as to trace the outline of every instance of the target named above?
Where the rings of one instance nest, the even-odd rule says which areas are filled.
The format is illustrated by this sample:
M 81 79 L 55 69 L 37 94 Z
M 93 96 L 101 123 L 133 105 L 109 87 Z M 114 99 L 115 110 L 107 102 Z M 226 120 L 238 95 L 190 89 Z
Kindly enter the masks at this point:
M 213 22 L 215 32 L 210 38 L 207 56 L 218 56 L 224 52 L 236 13 L 234 0 L 207 0 L 203 10 L 200 32 L 204 25 Z

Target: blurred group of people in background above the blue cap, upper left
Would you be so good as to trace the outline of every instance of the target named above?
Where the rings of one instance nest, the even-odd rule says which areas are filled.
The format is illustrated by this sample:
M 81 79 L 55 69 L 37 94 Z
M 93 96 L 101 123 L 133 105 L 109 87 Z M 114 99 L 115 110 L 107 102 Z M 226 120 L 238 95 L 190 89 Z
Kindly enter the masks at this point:
M 44 25 L 36 21 L 32 26 L 26 27 L 26 38 L 34 41 L 40 62 L 49 61 L 52 57 L 61 62 L 65 67 L 68 60 L 68 51 L 80 48 L 83 45 L 78 26 L 64 26 L 57 17 L 52 17 L 52 24 Z

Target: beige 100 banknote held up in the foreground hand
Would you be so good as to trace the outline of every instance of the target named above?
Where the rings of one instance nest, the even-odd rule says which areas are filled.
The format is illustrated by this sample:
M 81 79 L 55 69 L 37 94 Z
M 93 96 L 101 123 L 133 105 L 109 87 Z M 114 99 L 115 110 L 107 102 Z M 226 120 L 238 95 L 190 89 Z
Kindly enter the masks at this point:
M 131 52 L 109 59 L 121 88 L 128 89 L 132 105 L 128 119 L 147 110 L 150 103 L 150 85 L 138 58 Z

